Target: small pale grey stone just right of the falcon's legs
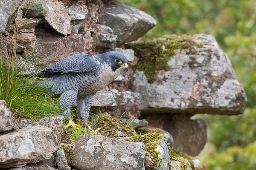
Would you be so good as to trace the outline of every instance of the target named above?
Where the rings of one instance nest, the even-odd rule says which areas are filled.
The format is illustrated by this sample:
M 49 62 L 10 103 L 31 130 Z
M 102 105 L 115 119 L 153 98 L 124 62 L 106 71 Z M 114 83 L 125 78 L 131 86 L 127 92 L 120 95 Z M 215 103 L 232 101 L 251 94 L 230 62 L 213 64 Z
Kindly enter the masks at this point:
M 93 96 L 92 106 L 116 106 L 116 101 L 111 91 L 97 91 Z

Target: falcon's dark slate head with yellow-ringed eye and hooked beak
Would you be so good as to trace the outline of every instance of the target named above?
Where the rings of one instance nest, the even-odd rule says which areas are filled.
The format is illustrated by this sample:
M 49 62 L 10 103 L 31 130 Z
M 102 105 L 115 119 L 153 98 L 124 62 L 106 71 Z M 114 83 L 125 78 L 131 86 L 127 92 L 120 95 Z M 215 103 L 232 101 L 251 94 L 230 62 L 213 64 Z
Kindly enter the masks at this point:
M 110 51 L 110 52 L 104 53 L 104 58 L 107 59 L 107 63 L 108 65 L 111 66 L 111 69 L 113 70 L 113 72 L 119 71 L 119 70 L 122 71 L 122 69 L 124 69 L 126 72 L 128 71 L 128 64 L 127 64 L 128 60 L 125 57 L 125 55 L 120 53 L 119 51 Z

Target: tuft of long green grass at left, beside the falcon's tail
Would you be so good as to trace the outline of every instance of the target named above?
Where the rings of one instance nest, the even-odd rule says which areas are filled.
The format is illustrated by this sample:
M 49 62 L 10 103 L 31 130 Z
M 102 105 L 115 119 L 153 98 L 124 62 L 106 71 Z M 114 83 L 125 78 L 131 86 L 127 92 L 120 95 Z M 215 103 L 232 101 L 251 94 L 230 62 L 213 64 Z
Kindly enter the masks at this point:
M 60 114 L 55 100 L 45 93 L 45 88 L 35 88 L 33 84 L 42 79 L 22 75 L 29 69 L 22 55 L 16 53 L 18 26 L 13 22 L 9 29 L 9 54 L 3 50 L 4 40 L 0 40 L 0 99 L 5 100 L 15 119 L 41 119 Z M 22 62 L 21 62 L 22 61 Z M 31 63 L 33 64 L 33 63 Z

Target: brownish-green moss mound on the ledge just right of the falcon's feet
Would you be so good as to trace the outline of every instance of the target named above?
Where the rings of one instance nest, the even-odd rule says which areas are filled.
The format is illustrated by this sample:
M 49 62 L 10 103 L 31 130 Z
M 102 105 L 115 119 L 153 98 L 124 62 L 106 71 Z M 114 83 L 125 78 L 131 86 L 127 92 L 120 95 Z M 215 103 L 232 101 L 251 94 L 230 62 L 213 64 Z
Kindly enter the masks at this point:
M 119 138 L 120 133 L 124 134 L 124 137 L 136 135 L 132 127 L 110 116 L 99 116 L 96 126 L 101 128 L 99 133 L 104 137 Z

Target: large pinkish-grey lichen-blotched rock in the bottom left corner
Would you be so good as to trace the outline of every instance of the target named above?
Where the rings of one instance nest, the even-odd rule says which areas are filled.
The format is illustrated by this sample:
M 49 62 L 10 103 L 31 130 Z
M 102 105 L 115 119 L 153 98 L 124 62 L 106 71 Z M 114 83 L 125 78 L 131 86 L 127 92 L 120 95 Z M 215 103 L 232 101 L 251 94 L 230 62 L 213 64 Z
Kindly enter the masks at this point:
M 31 126 L 0 135 L 0 167 L 22 167 L 52 157 L 58 139 L 44 126 Z

